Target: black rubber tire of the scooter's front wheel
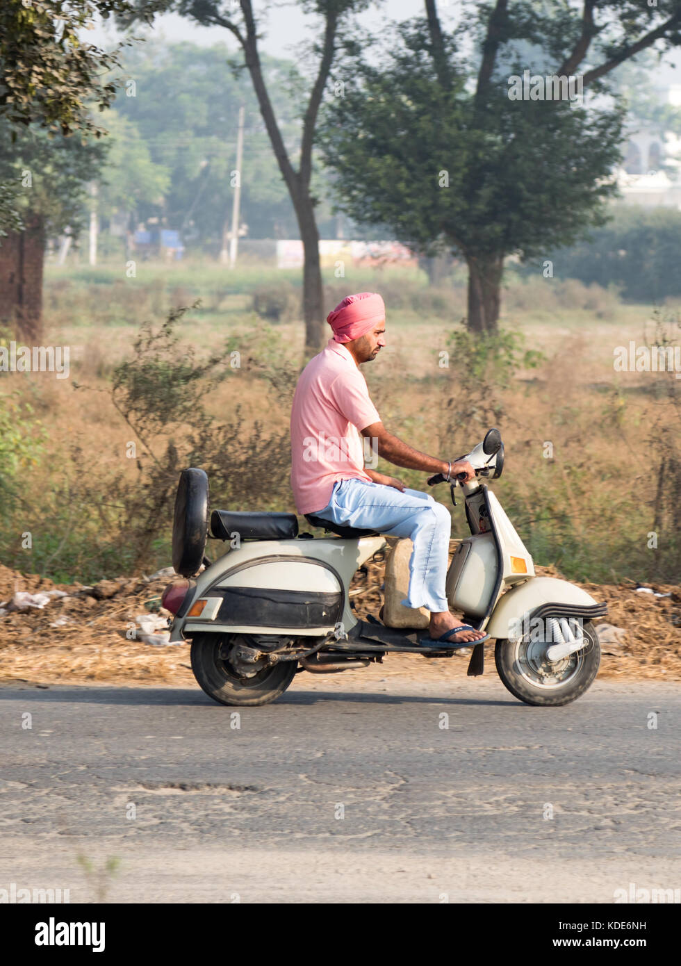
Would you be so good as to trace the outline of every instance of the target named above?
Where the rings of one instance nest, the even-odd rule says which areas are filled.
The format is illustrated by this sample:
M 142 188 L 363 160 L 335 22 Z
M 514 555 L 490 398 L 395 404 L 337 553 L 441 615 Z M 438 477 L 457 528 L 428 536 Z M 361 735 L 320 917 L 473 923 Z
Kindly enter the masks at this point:
M 524 638 L 515 644 L 509 640 L 497 640 L 495 664 L 498 676 L 514 697 L 543 707 L 556 707 L 576 700 L 591 686 L 601 664 L 601 645 L 596 628 L 589 621 L 583 625 L 584 637 L 590 645 L 565 659 L 565 680 L 557 684 L 537 684 L 528 680 L 519 662 L 520 648 L 527 646 Z M 525 666 L 526 667 L 526 666 Z M 559 667 L 559 666 L 554 666 Z M 531 675 L 530 675 L 531 676 Z

